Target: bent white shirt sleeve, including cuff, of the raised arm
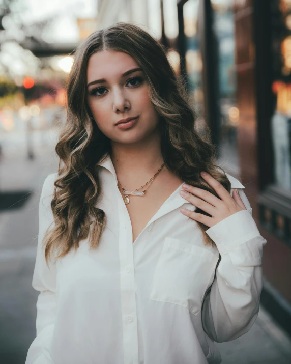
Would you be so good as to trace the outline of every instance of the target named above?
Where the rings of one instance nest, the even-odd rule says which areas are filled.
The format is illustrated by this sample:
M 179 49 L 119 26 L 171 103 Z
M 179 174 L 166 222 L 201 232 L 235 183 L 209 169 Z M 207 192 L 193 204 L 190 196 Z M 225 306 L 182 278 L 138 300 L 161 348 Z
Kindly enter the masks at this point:
M 216 243 L 221 260 L 203 302 L 202 325 L 218 343 L 234 340 L 251 328 L 263 287 L 261 258 L 267 241 L 257 229 L 244 191 L 238 191 L 247 210 L 232 214 L 206 231 Z

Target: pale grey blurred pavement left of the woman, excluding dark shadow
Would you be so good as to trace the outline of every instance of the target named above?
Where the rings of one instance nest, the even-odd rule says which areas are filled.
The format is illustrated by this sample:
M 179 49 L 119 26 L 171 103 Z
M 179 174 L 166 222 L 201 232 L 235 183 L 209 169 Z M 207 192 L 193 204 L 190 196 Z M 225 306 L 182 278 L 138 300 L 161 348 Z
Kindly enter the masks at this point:
M 0 363 L 23 364 L 35 338 L 36 300 L 32 288 L 38 236 L 38 205 L 46 176 L 57 170 L 53 148 L 25 151 L 0 162 L 0 191 L 31 191 L 21 209 L 0 213 Z

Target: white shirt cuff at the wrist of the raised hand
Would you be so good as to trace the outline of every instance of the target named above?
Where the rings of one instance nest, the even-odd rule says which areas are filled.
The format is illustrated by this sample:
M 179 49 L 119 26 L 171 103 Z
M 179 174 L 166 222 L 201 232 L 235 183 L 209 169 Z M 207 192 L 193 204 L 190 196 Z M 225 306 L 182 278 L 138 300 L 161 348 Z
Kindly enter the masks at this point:
M 248 210 L 236 212 L 206 230 L 221 255 L 259 236 L 260 232 Z

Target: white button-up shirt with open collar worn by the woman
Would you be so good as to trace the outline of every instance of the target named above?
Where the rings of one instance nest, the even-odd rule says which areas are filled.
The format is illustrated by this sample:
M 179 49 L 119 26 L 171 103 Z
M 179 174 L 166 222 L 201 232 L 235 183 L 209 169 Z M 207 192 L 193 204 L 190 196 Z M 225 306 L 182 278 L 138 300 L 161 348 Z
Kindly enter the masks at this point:
M 41 243 L 53 221 L 50 201 L 57 174 L 44 181 L 33 287 L 37 335 L 26 364 L 220 363 L 213 341 L 238 338 L 254 323 L 262 288 L 266 240 L 252 218 L 244 186 L 234 177 L 248 210 L 207 230 L 203 245 L 196 209 L 180 195 L 162 204 L 132 243 L 131 221 L 110 156 L 100 164 L 107 216 L 100 245 L 82 240 L 76 253 L 47 267 Z M 221 256 L 221 259 L 220 259 Z

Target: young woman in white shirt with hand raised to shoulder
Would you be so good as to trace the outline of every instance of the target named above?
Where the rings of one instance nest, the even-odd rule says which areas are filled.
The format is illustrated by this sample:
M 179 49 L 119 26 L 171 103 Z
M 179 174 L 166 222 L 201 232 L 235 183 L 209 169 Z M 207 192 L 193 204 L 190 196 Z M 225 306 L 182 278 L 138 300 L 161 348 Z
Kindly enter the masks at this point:
M 165 50 L 130 23 L 93 33 L 67 111 L 40 198 L 26 364 L 220 363 L 213 341 L 257 317 L 266 240 Z

